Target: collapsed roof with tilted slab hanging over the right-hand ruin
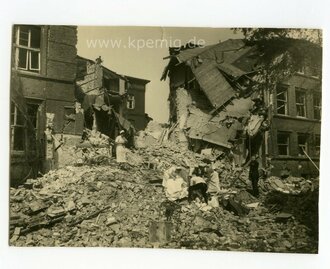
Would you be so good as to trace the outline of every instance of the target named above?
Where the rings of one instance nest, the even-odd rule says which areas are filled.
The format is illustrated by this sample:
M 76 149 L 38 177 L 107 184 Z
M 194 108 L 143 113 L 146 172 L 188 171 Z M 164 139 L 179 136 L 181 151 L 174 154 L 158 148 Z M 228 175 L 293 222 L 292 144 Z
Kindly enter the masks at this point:
M 246 46 L 243 39 L 228 39 L 215 45 L 179 50 L 172 55 L 162 79 L 166 78 L 173 65 L 185 63 L 190 66 L 212 106 L 218 109 L 237 92 L 228 77 L 237 80 L 253 71 L 255 51 L 255 47 Z

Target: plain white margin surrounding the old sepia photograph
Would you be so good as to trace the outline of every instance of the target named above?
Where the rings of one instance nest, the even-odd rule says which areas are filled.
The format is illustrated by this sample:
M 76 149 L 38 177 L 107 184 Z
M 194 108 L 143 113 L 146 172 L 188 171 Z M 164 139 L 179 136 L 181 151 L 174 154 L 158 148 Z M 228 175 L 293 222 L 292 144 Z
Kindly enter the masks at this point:
M 0 268 L 330 268 L 329 7 L 325 0 L 3 1 L 0 15 Z M 8 247 L 9 81 L 11 25 L 14 23 L 323 28 L 319 254 Z

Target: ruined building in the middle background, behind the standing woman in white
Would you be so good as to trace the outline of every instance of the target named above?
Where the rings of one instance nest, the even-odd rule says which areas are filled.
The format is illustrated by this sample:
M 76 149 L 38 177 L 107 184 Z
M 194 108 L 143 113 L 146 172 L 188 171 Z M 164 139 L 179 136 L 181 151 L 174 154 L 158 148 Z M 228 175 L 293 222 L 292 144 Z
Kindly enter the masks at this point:
M 114 139 L 120 129 L 143 130 L 145 90 L 149 80 L 117 74 L 95 61 L 77 57 L 76 97 L 84 110 L 85 126 Z

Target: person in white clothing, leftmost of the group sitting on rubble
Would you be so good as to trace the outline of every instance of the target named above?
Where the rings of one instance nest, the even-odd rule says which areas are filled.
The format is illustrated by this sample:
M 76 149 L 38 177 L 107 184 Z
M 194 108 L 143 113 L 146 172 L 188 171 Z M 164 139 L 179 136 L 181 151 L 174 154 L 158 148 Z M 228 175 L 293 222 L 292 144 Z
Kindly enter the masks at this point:
M 175 201 L 187 197 L 187 183 L 180 176 L 181 167 L 171 167 L 164 173 L 163 186 L 168 200 Z

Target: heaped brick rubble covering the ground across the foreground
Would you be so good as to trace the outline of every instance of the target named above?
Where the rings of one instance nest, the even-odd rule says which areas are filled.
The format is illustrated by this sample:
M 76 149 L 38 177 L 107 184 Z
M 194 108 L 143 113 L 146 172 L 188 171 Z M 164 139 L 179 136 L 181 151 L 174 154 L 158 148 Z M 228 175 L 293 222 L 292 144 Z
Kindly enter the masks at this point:
M 218 161 L 220 206 L 205 209 L 169 202 L 161 184 L 165 169 L 194 165 L 198 154 L 154 145 L 131 153 L 123 169 L 112 157 L 98 159 L 11 188 L 10 244 L 317 252 L 315 181 L 271 177 L 257 199 L 247 171 Z

